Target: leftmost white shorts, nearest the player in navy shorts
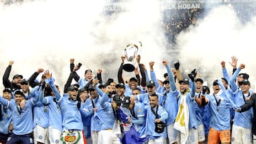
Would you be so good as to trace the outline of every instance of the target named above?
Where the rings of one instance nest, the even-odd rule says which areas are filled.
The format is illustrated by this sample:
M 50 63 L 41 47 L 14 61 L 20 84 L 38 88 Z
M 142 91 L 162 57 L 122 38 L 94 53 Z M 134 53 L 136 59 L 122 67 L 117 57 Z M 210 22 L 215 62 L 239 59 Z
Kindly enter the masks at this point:
M 36 125 L 35 128 L 33 128 L 33 139 L 35 143 L 40 142 L 48 144 L 48 128 Z

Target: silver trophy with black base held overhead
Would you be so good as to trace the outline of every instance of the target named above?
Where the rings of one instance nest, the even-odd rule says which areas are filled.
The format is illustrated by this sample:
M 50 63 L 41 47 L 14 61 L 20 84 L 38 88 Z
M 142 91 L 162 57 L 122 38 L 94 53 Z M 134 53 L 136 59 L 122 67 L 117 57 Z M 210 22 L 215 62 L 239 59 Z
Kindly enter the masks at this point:
M 127 72 L 133 72 L 136 67 L 138 67 L 137 57 L 142 51 L 142 42 L 132 43 L 127 45 L 124 48 L 124 65 L 122 66 L 123 70 Z

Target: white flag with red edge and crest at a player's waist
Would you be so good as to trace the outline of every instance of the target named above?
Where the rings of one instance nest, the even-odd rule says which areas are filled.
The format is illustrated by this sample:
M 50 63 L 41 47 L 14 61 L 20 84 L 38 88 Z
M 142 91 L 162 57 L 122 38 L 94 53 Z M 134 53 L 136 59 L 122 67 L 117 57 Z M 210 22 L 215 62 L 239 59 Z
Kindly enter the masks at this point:
M 61 134 L 61 140 L 63 140 L 62 143 L 66 144 L 84 144 L 86 143 L 85 135 L 83 134 L 83 131 L 68 131 L 63 130 Z

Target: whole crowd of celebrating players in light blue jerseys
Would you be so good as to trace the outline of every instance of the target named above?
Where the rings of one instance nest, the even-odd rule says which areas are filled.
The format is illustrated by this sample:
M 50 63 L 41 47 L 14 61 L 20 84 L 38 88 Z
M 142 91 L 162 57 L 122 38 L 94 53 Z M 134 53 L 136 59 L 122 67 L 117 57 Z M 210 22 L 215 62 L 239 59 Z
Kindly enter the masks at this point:
M 1 143 L 256 143 L 256 95 L 236 57 L 230 62 L 232 76 L 220 62 L 223 77 L 210 87 L 196 69 L 183 77 L 179 62 L 171 68 L 163 60 L 161 81 L 154 62 L 148 72 L 138 60 L 134 77 L 126 80 L 122 57 L 117 82 L 102 82 L 102 70 L 96 77 L 92 70 L 80 77 L 81 64 L 74 61 L 63 92 L 43 68 L 28 79 L 15 74 L 10 81 L 14 61 L 9 62 L 0 96 Z

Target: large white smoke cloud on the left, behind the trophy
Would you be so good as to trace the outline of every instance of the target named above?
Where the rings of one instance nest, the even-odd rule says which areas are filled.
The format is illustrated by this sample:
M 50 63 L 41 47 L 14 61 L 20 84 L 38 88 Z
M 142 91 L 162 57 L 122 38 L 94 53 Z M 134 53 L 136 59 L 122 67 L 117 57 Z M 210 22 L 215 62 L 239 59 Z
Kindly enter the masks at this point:
M 149 67 L 154 61 L 156 73 L 162 73 L 158 67 L 163 67 L 166 38 L 158 1 L 129 1 L 129 11 L 111 16 L 103 13 L 105 5 L 97 0 L 38 0 L 0 6 L 0 76 L 14 60 L 9 79 L 14 74 L 28 78 L 42 67 L 63 87 L 70 58 L 75 58 L 82 63 L 80 77 L 86 69 L 96 74 L 102 68 L 103 79 L 117 80 L 122 50 L 131 41 L 142 41 L 142 63 Z

